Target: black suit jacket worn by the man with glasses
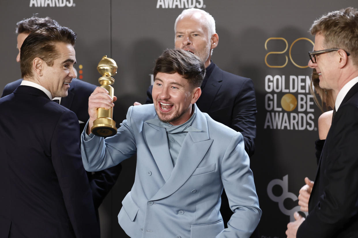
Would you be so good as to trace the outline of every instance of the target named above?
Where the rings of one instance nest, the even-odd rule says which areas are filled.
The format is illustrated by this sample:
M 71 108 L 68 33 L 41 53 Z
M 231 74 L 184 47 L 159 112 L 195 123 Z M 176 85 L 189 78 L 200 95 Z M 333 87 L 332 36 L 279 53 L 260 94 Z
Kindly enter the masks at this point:
M 358 237 L 358 83 L 344 97 L 329 129 L 297 238 Z

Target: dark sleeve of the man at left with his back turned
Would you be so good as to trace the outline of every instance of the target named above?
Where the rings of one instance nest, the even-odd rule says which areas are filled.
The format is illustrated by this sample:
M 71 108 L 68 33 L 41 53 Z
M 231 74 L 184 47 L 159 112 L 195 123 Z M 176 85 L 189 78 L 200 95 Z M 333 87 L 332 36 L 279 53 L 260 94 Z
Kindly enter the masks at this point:
M 65 111 L 53 132 L 52 163 L 76 237 L 100 237 L 88 178 L 81 161 L 78 135 L 76 115 Z

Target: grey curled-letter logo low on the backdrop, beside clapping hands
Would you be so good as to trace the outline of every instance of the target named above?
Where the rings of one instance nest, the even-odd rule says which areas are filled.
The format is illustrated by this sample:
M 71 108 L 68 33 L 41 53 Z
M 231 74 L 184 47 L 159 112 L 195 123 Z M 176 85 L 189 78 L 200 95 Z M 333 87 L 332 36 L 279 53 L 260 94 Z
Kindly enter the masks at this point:
M 285 199 L 292 199 L 292 201 L 296 201 L 298 199 L 297 196 L 294 193 L 289 192 L 288 181 L 289 181 L 288 174 L 286 174 L 282 178 L 282 180 L 281 179 L 273 179 L 273 180 L 271 180 L 269 185 L 267 185 L 267 194 L 269 195 L 269 198 L 272 201 L 278 203 L 279 209 L 283 214 L 285 214 L 287 216 L 290 216 L 290 222 L 293 222 L 293 221 L 295 221 L 294 213 L 300 211 L 300 206 L 296 206 L 296 207 L 294 207 L 294 208 L 289 210 L 284 205 Z M 274 186 L 280 186 L 281 189 L 282 189 L 282 194 L 280 194 L 279 196 L 276 196 L 274 194 L 274 192 L 272 191 Z M 304 212 L 304 213 L 306 214 L 306 216 L 308 215 L 308 212 Z

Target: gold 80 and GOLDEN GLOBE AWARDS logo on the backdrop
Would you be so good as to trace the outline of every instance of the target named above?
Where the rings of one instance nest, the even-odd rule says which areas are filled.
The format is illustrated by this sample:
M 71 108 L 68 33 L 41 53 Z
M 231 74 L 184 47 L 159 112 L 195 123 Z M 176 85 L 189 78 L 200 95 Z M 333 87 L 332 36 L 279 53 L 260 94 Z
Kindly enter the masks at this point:
M 282 51 L 271 51 L 265 56 L 265 64 L 270 68 L 284 68 L 290 62 L 298 69 L 305 69 L 308 65 L 299 65 L 292 57 L 292 49 L 297 41 L 309 41 L 308 38 L 298 38 L 290 45 L 282 37 L 271 37 L 265 42 L 279 40 L 285 43 Z M 297 45 L 296 45 L 297 46 Z M 270 62 L 270 55 L 281 57 L 285 63 L 273 65 Z M 289 57 L 287 57 L 287 55 Z M 271 56 L 272 57 L 272 56 Z M 307 57 L 308 62 L 308 57 Z M 310 75 L 266 75 L 265 77 L 265 109 L 267 111 L 264 129 L 275 130 L 317 130 L 314 125 L 314 100 L 310 94 Z

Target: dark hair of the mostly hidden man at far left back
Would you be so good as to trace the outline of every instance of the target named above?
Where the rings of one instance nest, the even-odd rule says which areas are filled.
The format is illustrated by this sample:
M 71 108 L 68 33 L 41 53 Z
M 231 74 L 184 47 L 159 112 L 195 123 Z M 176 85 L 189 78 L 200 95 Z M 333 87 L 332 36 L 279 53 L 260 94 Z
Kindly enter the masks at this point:
M 37 17 L 32 16 L 16 23 L 16 34 L 32 33 L 42 27 L 61 27 L 57 21 L 52 20 L 50 17 Z

